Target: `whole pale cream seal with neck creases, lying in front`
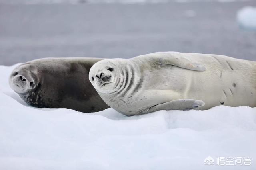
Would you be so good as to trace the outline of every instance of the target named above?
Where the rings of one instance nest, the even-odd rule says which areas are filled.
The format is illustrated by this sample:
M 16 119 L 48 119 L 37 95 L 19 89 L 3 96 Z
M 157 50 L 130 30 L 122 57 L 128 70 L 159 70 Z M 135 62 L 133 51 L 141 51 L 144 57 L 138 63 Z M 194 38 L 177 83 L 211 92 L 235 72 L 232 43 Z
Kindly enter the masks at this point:
M 105 59 L 92 66 L 89 78 L 106 104 L 124 115 L 256 106 L 256 62 L 224 55 L 158 52 Z

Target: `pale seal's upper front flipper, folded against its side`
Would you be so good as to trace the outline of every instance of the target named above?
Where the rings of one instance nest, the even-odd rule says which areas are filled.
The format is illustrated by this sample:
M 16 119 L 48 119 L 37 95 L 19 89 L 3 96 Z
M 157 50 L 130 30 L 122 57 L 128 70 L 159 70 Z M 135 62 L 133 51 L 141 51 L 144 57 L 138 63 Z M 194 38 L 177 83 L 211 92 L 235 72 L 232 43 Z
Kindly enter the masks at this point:
M 196 63 L 186 58 L 190 58 L 190 56 L 186 56 L 184 53 L 178 52 L 158 52 L 153 53 L 156 55 L 156 58 L 161 64 L 170 64 L 180 68 L 185 68 L 188 70 L 194 71 L 205 71 L 206 67 L 200 63 Z

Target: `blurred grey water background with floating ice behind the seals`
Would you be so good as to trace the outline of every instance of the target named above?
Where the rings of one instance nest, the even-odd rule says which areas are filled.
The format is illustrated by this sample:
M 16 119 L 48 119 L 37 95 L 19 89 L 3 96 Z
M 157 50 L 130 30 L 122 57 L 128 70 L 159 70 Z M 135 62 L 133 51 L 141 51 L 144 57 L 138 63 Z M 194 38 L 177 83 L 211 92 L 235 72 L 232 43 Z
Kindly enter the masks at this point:
M 246 6 L 256 0 L 0 0 L 0 65 L 157 51 L 256 61 L 255 8 Z

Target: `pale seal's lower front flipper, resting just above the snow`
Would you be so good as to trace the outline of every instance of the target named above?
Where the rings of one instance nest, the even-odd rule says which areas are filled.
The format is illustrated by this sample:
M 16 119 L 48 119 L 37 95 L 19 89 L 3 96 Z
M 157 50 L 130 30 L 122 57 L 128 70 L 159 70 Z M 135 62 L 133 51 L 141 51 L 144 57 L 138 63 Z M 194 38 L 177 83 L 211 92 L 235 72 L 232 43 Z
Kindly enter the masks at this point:
M 204 102 L 194 99 L 178 99 L 150 107 L 145 112 L 151 113 L 159 110 L 190 110 L 204 106 Z

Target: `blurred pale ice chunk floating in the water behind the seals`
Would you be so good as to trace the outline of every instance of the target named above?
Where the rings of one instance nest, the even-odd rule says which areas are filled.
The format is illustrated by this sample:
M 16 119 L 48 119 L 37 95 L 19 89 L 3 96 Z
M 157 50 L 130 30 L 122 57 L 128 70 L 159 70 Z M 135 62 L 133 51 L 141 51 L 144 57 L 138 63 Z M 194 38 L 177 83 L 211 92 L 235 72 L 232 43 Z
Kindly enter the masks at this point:
M 246 6 L 238 10 L 237 21 L 242 29 L 256 30 L 256 7 Z

